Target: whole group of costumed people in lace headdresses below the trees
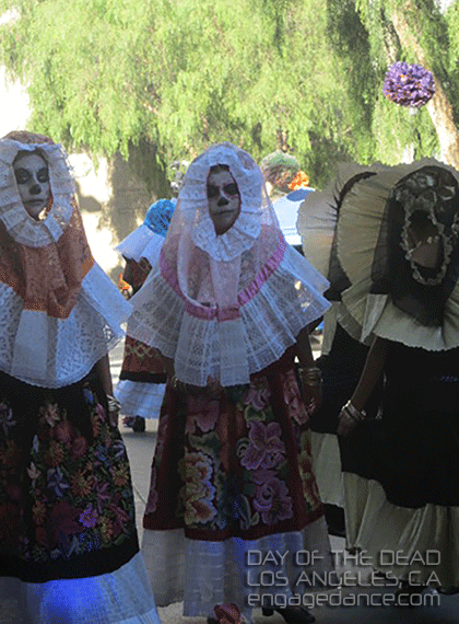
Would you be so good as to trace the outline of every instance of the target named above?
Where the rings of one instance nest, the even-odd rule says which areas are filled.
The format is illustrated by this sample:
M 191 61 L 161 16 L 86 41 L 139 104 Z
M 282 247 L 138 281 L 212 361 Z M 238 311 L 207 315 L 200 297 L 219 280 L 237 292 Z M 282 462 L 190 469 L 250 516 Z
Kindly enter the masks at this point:
M 302 196 L 299 253 L 272 201 L 308 184 L 298 162 L 213 145 L 117 247 L 128 301 L 60 145 L 10 132 L 0 181 L 0 601 L 22 622 L 160 624 L 183 602 L 310 623 L 292 599 L 333 570 L 329 534 L 376 568 L 403 553 L 382 567 L 404 591 L 459 588 L 455 170 L 342 166 Z M 141 544 L 119 414 L 158 420 Z

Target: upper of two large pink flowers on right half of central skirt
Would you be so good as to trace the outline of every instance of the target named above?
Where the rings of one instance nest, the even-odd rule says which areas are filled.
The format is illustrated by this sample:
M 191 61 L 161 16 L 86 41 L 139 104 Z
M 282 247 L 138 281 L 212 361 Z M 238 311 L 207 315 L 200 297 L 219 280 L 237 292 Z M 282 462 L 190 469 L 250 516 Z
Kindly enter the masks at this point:
M 240 463 L 248 470 L 270 469 L 279 465 L 285 454 L 285 444 L 280 439 L 279 423 L 264 425 L 259 420 L 250 423 L 249 446 Z

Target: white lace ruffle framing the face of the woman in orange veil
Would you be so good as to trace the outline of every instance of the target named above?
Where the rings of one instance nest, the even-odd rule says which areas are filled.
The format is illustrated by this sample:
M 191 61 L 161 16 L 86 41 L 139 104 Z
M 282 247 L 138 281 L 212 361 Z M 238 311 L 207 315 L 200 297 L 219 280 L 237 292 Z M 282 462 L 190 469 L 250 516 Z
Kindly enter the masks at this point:
M 46 219 L 33 219 L 24 208 L 14 177 L 13 161 L 19 151 L 39 149 L 46 155 L 54 204 Z M 74 182 L 60 145 L 25 145 L 2 139 L 0 149 L 0 220 L 21 244 L 42 247 L 58 241 L 73 211 Z

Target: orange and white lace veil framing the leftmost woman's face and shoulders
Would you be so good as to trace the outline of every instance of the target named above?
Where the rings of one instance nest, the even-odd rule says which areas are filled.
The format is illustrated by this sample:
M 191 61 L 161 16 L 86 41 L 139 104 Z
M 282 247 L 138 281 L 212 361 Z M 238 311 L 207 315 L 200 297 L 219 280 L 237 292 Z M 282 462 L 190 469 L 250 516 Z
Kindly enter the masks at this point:
M 43 219 L 25 210 L 14 177 L 20 151 L 47 161 Z M 60 388 L 82 379 L 122 336 L 130 305 L 94 262 L 60 145 L 42 135 L 0 140 L 0 370 Z

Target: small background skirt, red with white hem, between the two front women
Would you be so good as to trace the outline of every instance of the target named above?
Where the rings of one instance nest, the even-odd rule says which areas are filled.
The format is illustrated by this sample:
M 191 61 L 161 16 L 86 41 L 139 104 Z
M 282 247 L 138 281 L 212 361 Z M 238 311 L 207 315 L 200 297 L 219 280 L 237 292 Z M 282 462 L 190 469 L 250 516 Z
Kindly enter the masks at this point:
M 115 395 L 126 416 L 157 418 L 166 389 L 166 373 L 153 347 L 127 336 Z

